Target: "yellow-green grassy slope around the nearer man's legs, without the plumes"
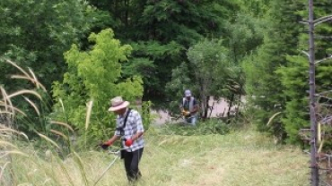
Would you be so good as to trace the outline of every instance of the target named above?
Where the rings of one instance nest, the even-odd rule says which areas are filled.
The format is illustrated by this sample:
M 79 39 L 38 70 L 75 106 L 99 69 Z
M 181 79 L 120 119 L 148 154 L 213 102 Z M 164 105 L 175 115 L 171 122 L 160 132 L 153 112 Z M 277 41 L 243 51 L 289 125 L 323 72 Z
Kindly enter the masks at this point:
M 275 147 L 273 139 L 250 129 L 204 136 L 161 135 L 150 130 L 145 141 L 140 165 L 144 177 L 138 185 L 309 185 L 309 156 L 298 148 Z M 20 149 L 28 157 L 13 156 L 10 165 L 16 185 L 90 186 L 114 158 L 90 151 L 61 160 L 44 156 L 45 151 Z M 5 158 L 0 161 L 4 165 Z M 5 167 L 1 185 L 9 184 L 10 165 Z M 120 160 L 98 185 L 127 185 Z

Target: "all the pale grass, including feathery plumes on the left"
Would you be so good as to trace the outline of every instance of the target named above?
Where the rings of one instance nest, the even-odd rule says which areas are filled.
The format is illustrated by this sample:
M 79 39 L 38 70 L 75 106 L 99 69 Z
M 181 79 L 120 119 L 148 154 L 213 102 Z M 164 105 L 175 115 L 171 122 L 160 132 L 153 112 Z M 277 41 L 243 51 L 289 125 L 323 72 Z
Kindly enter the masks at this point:
M 8 63 L 22 72 L 14 78 L 30 80 L 43 89 L 31 70 L 25 72 L 15 63 Z M 0 116 L 9 120 L 16 112 L 23 114 L 13 106 L 13 97 L 39 97 L 34 90 L 7 94 L 1 88 L 1 92 Z M 36 114 L 42 114 L 30 99 L 25 100 L 34 107 Z M 87 105 L 86 131 L 91 114 L 92 102 Z M 49 123 L 68 131 L 50 129 L 48 132 L 70 145 L 69 135 L 74 132 L 73 128 L 63 121 Z M 78 152 L 71 148 L 66 156 L 60 156 L 62 146 L 47 133 L 36 131 L 39 140 L 47 144 L 44 148 L 36 148 L 27 135 L 14 130 L 13 124 L 0 120 L 0 185 L 91 186 L 115 158 L 100 148 Z M 208 130 L 217 130 L 215 127 Z M 264 134 L 247 129 L 227 131 L 224 135 L 205 132 L 204 136 L 184 136 L 168 130 L 170 126 L 155 128 L 144 135 L 146 146 L 140 164 L 143 179 L 138 185 L 308 185 L 308 162 L 301 150 L 275 147 L 273 140 Z M 195 128 L 190 130 L 196 132 Z M 97 185 L 127 185 L 123 163 L 116 161 Z

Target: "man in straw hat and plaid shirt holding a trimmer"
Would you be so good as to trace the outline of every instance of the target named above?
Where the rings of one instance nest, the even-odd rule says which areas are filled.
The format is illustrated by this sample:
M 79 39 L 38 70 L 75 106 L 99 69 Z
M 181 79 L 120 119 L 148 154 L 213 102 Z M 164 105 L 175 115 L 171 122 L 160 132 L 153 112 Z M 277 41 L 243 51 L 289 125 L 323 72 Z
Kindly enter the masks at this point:
M 114 136 L 102 144 L 102 148 L 108 148 L 116 140 L 121 139 L 121 158 L 124 164 L 129 182 L 137 181 L 142 174 L 138 164 L 144 150 L 144 126 L 141 114 L 128 108 L 129 102 L 122 97 L 114 97 L 110 100 L 109 112 L 117 114 L 117 129 Z

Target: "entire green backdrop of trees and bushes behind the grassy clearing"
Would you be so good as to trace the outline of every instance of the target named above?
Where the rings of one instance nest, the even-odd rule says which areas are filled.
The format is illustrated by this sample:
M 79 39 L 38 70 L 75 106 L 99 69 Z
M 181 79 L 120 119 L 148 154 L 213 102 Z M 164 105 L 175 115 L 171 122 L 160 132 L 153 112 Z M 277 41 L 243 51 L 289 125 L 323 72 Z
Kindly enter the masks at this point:
M 314 5 L 316 18 L 330 14 L 329 1 Z M 9 80 L 16 70 L 4 59 L 11 59 L 31 67 L 52 91 L 53 97 L 40 91 L 43 102 L 31 97 L 46 116 L 18 123 L 22 131 L 45 131 L 56 118 L 101 137 L 114 127 L 110 97 L 122 95 L 133 105 L 143 97 L 174 108 L 183 90 L 192 89 L 204 117 L 210 97 L 223 97 L 246 108 L 259 131 L 300 143 L 298 131 L 309 126 L 308 60 L 301 52 L 308 49 L 308 33 L 300 23 L 307 14 L 300 0 L 2 0 L 0 85 L 8 94 L 31 89 Z M 317 60 L 329 57 L 331 26 L 315 29 Z M 317 98 L 326 114 L 330 60 L 317 67 Z M 22 100 L 13 103 L 32 114 Z M 147 113 L 144 120 L 151 121 Z

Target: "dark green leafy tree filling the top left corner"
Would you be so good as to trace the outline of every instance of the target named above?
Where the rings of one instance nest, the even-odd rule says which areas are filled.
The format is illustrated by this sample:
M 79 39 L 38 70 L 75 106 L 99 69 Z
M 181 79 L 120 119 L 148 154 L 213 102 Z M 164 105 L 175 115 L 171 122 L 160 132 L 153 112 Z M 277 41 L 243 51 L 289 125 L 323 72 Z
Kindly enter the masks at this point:
M 52 81 L 59 80 L 66 71 L 63 53 L 72 43 L 79 43 L 89 30 L 91 12 L 83 1 L 3 0 L 0 2 L 0 55 L 32 67 L 50 89 Z M 0 62 L 0 68 L 14 72 L 4 61 Z M 24 87 L 24 84 L 8 82 L 1 73 L 0 84 L 7 90 Z

